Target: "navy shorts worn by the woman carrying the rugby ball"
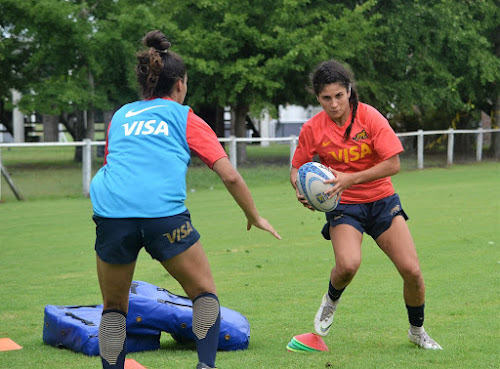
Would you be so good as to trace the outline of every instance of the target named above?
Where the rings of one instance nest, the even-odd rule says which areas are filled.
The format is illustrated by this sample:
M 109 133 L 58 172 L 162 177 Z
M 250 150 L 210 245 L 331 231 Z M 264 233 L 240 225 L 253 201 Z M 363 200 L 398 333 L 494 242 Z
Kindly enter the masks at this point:
M 397 215 L 408 220 L 398 194 L 364 204 L 339 204 L 335 210 L 326 213 L 327 222 L 323 226 L 321 234 L 329 240 L 330 227 L 350 224 L 361 233 L 366 232 L 375 240 L 389 229 L 392 218 Z

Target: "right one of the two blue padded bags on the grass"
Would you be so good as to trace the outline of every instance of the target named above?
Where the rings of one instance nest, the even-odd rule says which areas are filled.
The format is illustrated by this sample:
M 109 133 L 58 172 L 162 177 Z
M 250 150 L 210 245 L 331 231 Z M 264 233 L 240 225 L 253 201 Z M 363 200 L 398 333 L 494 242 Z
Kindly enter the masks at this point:
M 178 342 L 194 342 L 193 303 L 184 296 L 152 284 L 133 281 L 129 294 L 127 332 L 161 330 Z M 237 311 L 221 306 L 219 350 L 245 350 L 250 342 L 250 324 Z

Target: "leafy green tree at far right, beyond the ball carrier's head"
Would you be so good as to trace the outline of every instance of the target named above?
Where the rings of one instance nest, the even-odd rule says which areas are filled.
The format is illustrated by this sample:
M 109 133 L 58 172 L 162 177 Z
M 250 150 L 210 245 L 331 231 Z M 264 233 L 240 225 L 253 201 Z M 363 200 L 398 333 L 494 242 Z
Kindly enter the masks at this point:
M 386 48 L 359 68 L 368 72 L 368 101 L 399 117 L 418 112 L 422 119 L 410 129 L 447 128 L 457 113 L 465 117 L 459 127 L 470 127 L 471 116 L 492 110 L 500 80 L 493 0 L 379 2 L 373 11 L 382 15 Z M 437 112 L 444 119 L 436 123 Z

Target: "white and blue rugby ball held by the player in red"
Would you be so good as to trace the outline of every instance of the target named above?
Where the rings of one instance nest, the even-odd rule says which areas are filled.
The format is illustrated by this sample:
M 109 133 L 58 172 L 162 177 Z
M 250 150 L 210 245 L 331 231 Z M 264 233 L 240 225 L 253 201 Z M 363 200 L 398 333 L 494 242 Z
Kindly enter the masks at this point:
M 323 183 L 324 180 L 333 179 L 335 175 L 323 164 L 316 162 L 305 163 L 297 173 L 297 189 L 314 209 L 327 213 L 334 210 L 340 197 L 335 195 L 328 198 L 326 190 L 333 187 L 331 183 Z

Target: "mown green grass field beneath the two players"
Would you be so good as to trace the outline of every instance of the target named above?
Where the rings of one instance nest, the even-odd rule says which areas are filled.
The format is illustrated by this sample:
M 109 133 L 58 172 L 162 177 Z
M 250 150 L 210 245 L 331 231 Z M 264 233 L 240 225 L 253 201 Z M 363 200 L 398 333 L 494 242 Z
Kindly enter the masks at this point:
M 441 352 L 408 343 L 401 279 L 369 238 L 361 268 L 325 338 L 330 352 L 287 352 L 294 335 L 312 331 L 333 265 L 331 245 L 319 234 L 323 215 L 295 200 L 286 166 L 241 172 L 283 240 L 247 232 L 242 212 L 210 171 L 195 167 L 188 177 L 187 204 L 221 304 L 244 314 L 252 329 L 249 349 L 220 352 L 219 368 L 500 367 L 500 200 L 495 195 L 500 163 L 403 171 L 393 179 L 410 216 L 426 281 L 426 328 L 444 347 Z M 91 204 L 78 196 L 81 177 L 75 178 L 73 192 L 47 195 L 41 188 L 30 201 L 7 198 L 0 204 L 0 338 L 23 346 L 0 352 L 2 369 L 100 368 L 97 357 L 42 341 L 45 305 L 101 301 Z M 57 181 L 49 183 L 57 186 Z M 182 294 L 144 252 L 135 279 Z M 128 357 L 148 369 L 194 368 L 197 361 L 192 348 L 168 334 L 162 335 L 160 350 Z

